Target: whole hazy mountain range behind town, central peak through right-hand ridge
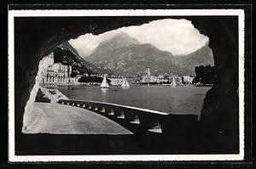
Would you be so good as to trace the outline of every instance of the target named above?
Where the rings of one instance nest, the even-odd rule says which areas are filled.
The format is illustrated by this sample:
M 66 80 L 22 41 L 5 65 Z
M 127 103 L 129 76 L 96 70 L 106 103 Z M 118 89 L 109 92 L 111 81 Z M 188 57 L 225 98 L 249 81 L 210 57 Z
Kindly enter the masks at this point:
M 174 56 L 152 44 L 141 44 L 125 33 L 101 42 L 86 60 L 119 75 L 144 75 L 146 67 L 153 75 L 193 75 L 195 66 L 214 63 L 208 45 L 188 55 Z

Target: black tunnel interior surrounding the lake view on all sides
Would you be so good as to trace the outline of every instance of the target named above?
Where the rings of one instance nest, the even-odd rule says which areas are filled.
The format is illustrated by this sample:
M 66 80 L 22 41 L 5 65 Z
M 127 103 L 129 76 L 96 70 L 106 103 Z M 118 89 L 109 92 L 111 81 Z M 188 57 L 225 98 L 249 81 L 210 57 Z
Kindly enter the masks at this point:
M 150 142 L 168 144 L 172 136 L 155 139 L 152 136 L 68 136 L 21 132 L 26 102 L 38 74 L 38 64 L 56 46 L 85 33 L 94 35 L 123 26 L 142 25 L 152 20 L 171 17 L 15 17 L 15 149 L 16 155 L 73 155 L 73 154 L 152 154 L 160 149 L 172 153 L 238 153 L 238 17 L 237 16 L 181 16 L 172 19 L 191 20 L 201 34 L 209 37 L 217 78 L 207 92 L 201 110 L 201 144 L 180 146 L 183 149 L 152 147 Z M 219 132 L 221 131 L 221 132 Z M 47 140 L 47 141 L 45 141 Z M 134 140 L 140 140 L 134 144 Z M 143 142 L 148 140 L 146 144 Z M 88 144 L 90 141 L 90 144 Z M 76 146 L 67 146 L 77 143 Z M 84 143 L 87 143 L 84 146 Z M 93 144 L 92 144 L 93 143 Z M 103 144 L 102 144 L 103 143 Z M 99 147 L 98 145 L 101 146 Z M 131 149 L 125 146 L 130 144 Z M 165 144 L 165 145 L 166 145 Z M 144 146 L 144 147 L 143 147 Z M 97 148 L 96 148 L 97 147 Z M 143 148 L 140 148 L 143 147 Z M 145 148 L 146 147 L 146 148 Z M 149 150 L 148 148 L 151 147 Z M 77 150 L 80 148 L 79 150 Z M 103 149 L 103 150 L 102 150 Z M 137 150 L 140 149 L 140 150 Z M 189 149 L 189 150 L 188 150 Z

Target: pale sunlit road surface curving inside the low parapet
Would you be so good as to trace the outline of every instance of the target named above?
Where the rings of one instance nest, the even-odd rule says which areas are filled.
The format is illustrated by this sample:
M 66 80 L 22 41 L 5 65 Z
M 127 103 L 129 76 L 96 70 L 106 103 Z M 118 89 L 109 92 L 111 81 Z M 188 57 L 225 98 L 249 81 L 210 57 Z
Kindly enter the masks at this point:
M 25 133 L 133 134 L 93 111 L 61 104 L 33 103 Z

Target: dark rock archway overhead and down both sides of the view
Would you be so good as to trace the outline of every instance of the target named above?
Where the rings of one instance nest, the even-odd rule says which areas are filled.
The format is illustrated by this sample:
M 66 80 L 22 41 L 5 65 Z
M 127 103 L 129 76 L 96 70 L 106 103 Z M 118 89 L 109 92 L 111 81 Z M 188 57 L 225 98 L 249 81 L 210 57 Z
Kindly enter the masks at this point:
M 178 17 L 177 17 L 178 18 Z M 223 146 L 238 149 L 237 17 L 180 17 L 210 38 L 218 75 L 204 100 L 201 125 L 212 138 L 229 138 Z M 22 149 L 22 116 L 35 83 L 38 63 L 53 49 L 84 33 L 100 34 L 122 26 L 142 25 L 163 17 L 15 18 L 15 143 Z M 208 130 L 212 129 L 212 130 Z

